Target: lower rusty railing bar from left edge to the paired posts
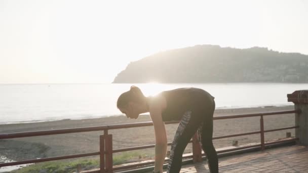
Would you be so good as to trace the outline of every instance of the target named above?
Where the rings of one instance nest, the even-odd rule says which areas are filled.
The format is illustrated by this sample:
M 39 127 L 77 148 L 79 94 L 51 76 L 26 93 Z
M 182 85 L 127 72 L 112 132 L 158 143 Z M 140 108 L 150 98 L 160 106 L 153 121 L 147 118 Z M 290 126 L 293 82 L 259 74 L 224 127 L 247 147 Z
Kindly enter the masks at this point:
M 15 162 L 9 162 L 9 163 L 0 163 L 0 167 L 14 166 L 14 165 L 19 165 L 19 164 L 38 163 L 38 162 L 44 162 L 44 161 L 62 160 L 62 159 L 69 159 L 69 158 L 96 156 L 96 155 L 99 155 L 99 154 L 100 154 L 100 152 L 93 152 L 93 153 L 74 154 L 74 155 L 58 156 L 58 157 L 48 157 L 48 158 L 40 158 L 40 159 L 32 159 L 32 160 L 24 160 L 24 161 L 15 161 Z

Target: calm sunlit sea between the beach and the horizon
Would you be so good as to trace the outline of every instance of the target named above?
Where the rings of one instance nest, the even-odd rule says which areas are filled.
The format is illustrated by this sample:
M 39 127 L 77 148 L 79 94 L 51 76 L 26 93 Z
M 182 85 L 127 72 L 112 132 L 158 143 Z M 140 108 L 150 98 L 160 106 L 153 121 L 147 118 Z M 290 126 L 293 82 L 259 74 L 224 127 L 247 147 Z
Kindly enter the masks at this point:
M 122 115 L 117 99 L 131 85 L 145 96 L 201 88 L 215 97 L 216 109 L 293 105 L 287 94 L 308 89 L 308 83 L 0 84 L 0 124 Z

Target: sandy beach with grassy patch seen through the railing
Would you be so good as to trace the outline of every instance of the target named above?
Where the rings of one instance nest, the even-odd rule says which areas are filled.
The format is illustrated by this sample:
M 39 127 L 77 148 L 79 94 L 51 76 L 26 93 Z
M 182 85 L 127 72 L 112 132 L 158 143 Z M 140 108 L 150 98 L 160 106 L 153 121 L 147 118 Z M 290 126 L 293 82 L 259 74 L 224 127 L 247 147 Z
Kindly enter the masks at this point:
M 259 113 L 294 110 L 294 106 L 284 107 L 259 107 L 259 108 L 241 108 L 241 109 L 218 109 L 214 116 L 234 115 L 244 113 Z M 109 124 L 122 124 L 150 121 L 148 115 L 142 115 L 137 120 L 128 119 L 125 116 L 110 116 L 95 119 L 81 120 L 60 120 L 49 122 L 22 123 L 0 125 L 0 134 L 43 131 L 48 129 L 74 128 Z M 294 114 L 271 115 L 264 117 L 264 129 L 273 129 L 280 127 L 293 126 Z M 172 142 L 177 124 L 166 125 L 168 133 L 168 142 Z M 236 118 L 214 121 L 214 137 L 238 133 L 259 131 L 259 117 Z M 271 132 L 265 134 L 266 141 L 285 138 L 286 132 L 291 132 L 294 136 L 294 129 L 285 131 Z M 53 156 L 62 156 L 69 154 L 79 154 L 99 151 L 99 135 L 103 132 L 73 133 L 63 135 L 52 135 L 42 137 L 17 138 L 10 140 L 0 140 L 0 155 L 4 155 L 13 160 L 24 160 L 33 158 L 44 158 Z M 139 145 L 148 145 L 155 143 L 153 127 L 137 127 L 128 129 L 110 130 L 113 135 L 113 149 L 133 147 Z M 216 148 L 231 146 L 232 141 L 239 141 L 239 145 L 254 143 L 260 141 L 260 135 L 241 136 L 234 138 L 225 138 L 214 140 Z M 153 152 L 153 149 L 147 149 L 146 152 Z M 185 152 L 191 152 L 191 144 L 188 144 Z

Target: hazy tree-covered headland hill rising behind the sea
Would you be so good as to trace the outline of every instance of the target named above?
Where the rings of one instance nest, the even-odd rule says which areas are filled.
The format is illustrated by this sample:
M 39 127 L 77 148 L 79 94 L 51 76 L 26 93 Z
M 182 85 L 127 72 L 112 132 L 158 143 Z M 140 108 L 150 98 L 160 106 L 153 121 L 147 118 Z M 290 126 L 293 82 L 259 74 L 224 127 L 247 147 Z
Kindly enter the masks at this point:
M 173 49 L 130 62 L 113 83 L 308 82 L 308 55 L 214 45 Z

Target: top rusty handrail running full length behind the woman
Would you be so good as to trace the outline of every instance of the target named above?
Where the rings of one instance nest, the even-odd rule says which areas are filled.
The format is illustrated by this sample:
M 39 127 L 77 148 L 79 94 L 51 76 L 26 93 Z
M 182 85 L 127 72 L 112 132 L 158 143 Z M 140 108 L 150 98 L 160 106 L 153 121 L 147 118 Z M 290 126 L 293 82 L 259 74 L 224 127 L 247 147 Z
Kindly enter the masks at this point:
M 288 113 L 299 113 L 299 112 L 300 112 L 300 109 L 292 110 L 292 111 L 278 111 L 278 112 L 265 112 L 265 113 L 253 113 L 253 114 L 239 114 L 239 115 L 223 115 L 223 116 L 214 116 L 213 119 L 243 118 L 243 117 L 261 116 L 261 115 L 288 114 Z M 178 123 L 178 122 L 179 121 L 169 121 L 169 122 L 165 122 L 165 124 L 172 124 L 172 123 Z M 151 126 L 151 125 L 153 125 L 153 123 L 151 121 L 148 121 L 148 122 L 137 122 L 137 123 L 129 123 L 129 124 L 114 124 L 114 125 L 101 125 L 101 126 L 78 127 L 78 128 L 53 129 L 53 130 L 47 130 L 47 131 L 20 132 L 20 133 L 10 133 L 10 134 L 0 134 L 0 139 L 12 139 L 12 138 L 34 137 L 34 136 L 104 131 L 108 129 L 132 128 L 132 127 L 142 127 L 142 126 Z

